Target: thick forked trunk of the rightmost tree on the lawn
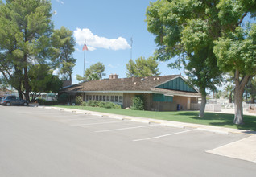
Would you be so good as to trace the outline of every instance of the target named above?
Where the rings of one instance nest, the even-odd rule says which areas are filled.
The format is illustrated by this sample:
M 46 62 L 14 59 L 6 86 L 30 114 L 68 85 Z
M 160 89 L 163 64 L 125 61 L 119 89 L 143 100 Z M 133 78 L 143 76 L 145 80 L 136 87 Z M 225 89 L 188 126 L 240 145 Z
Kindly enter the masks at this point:
M 235 115 L 233 123 L 237 125 L 243 124 L 243 113 L 242 113 L 242 94 L 244 93 L 245 86 L 253 76 L 245 75 L 240 80 L 240 72 L 235 72 L 235 89 L 234 89 L 234 109 Z

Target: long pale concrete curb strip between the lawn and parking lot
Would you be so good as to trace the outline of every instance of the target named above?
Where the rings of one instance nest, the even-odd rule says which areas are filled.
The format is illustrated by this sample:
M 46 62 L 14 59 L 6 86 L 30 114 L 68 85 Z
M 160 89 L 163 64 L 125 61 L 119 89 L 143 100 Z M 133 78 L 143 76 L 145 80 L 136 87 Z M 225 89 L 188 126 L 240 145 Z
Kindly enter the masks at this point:
M 223 135 L 229 135 L 229 134 L 247 134 L 247 135 L 255 135 L 255 131 L 249 131 L 249 130 L 237 130 L 237 129 L 231 129 L 231 128 L 225 128 L 225 127 L 217 127 L 217 126 L 205 126 L 200 124 L 192 124 L 192 123 L 184 123 L 179 121 L 165 121 L 165 120 L 158 120 L 158 119 L 152 119 L 152 118 L 144 118 L 144 117 L 130 117 L 130 116 L 124 116 L 124 115 L 118 115 L 118 114 L 111 114 L 111 113 L 100 113 L 100 112 L 93 112 L 88 110 L 78 110 L 78 109 L 63 109 L 63 108 L 57 108 L 57 107 L 47 107 L 47 106 L 38 106 L 38 108 L 43 109 L 56 109 L 60 111 L 67 111 L 69 113 L 81 113 L 81 114 L 89 114 L 93 116 L 99 116 L 99 117 L 109 117 L 114 118 L 118 120 L 130 120 L 130 121 L 137 121 L 142 123 L 155 123 L 159 124 L 161 126 L 170 126 L 175 128 L 194 128 L 201 131 L 208 131 L 212 132 L 214 134 L 223 134 Z

